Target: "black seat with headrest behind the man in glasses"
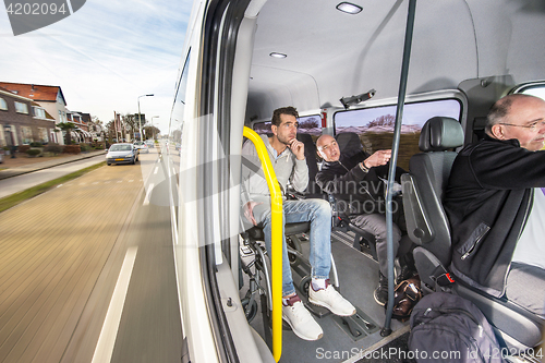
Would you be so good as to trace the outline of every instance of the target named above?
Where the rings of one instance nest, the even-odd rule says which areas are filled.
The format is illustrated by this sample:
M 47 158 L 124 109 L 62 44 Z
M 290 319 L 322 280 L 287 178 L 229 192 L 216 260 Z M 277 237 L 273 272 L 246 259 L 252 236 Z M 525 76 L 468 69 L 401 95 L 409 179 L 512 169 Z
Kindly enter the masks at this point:
M 459 280 L 449 282 L 453 277 L 448 269 L 451 235 L 443 195 L 457 155 L 452 149 L 462 144 L 463 130 L 458 120 L 446 117 L 429 119 L 419 142 L 423 153 L 411 158 L 410 172 L 401 177 L 408 233 L 419 245 L 413 255 L 422 287 L 427 292 L 451 289 L 471 300 L 495 327 L 506 347 L 534 348 L 541 341 L 542 319 L 507 299 L 493 298 Z

